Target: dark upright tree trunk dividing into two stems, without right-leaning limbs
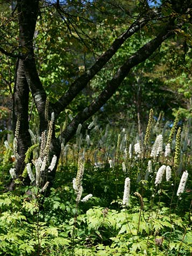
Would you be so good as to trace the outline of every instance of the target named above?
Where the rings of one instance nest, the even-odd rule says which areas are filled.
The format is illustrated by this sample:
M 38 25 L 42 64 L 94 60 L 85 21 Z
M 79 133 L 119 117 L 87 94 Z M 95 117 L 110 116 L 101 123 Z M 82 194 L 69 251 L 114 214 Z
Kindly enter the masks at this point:
M 22 174 L 25 167 L 25 153 L 27 149 L 31 146 L 31 138 L 29 134 L 29 120 L 28 120 L 28 103 L 29 103 L 29 89 L 31 90 L 32 96 L 34 98 L 35 105 L 38 110 L 39 120 L 40 120 L 40 134 L 42 131 L 47 130 L 48 122 L 45 118 L 45 104 L 46 104 L 46 93 L 42 84 L 40 82 L 37 68 L 35 66 L 35 58 L 33 52 L 33 35 L 35 31 L 35 24 L 38 17 L 38 0 L 19 0 L 18 1 L 18 17 L 19 17 L 19 41 L 22 47 L 22 53 L 20 54 L 20 59 L 17 61 L 16 67 L 16 81 L 14 90 L 14 101 L 13 101 L 13 129 L 16 130 L 16 123 L 19 118 L 20 127 L 18 131 L 18 160 L 16 164 L 16 174 L 19 176 Z M 51 110 L 49 111 L 49 114 Z M 50 116 L 50 115 L 49 115 Z M 49 159 L 52 160 L 53 155 L 56 155 L 59 160 L 61 151 L 61 146 L 59 139 L 55 138 L 54 124 L 52 140 L 50 145 Z M 58 163 L 57 160 L 57 163 Z M 56 166 L 57 166 L 56 163 Z M 47 163 L 48 165 L 48 163 Z M 42 186 L 44 186 L 46 181 L 51 184 L 55 177 L 56 166 L 52 172 L 48 173 L 45 170 L 46 179 Z M 30 180 L 26 179 L 26 185 L 30 184 Z M 10 189 L 13 187 L 13 182 Z

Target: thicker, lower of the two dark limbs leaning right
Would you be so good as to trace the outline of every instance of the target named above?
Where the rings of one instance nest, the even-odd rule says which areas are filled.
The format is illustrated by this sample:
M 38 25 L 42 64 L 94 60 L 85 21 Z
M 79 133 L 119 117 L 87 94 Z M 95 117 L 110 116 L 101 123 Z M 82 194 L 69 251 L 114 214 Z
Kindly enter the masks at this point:
M 173 34 L 173 28 L 168 25 L 156 38 L 141 47 L 117 70 L 117 73 L 108 82 L 102 93 L 86 109 L 78 113 L 72 122 L 61 133 L 61 136 L 65 139 L 65 143 L 72 138 L 80 123 L 84 123 L 89 117 L 94 115 L 94 113 L 96 113 L 106 103 L 106 101 L 108 101 L 120 86 L 120 83 L 122 83 L 125 77 L 129 74 L 130 69 L 148 59 L 162 44 L 162 42 Z

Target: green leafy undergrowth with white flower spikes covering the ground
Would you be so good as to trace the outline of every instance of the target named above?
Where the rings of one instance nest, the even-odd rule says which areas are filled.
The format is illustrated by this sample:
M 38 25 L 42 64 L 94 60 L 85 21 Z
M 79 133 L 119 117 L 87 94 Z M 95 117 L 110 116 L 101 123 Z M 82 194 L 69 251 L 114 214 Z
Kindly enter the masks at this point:
M 53 186 L 42 189 L 23 186 L 25 169 L 6 191 L 15 152 L 1 145 L 0 255 L 190 256 L 191 120 L 180 122 L 177 112 L 165 123 L 151 110 L 146 133 L 137 134 L 132 124 L 99 127 L 97 118 L 86 132 L 79 125 L 62 146 Z M 26 162 L 38 184 L 40 149 L 32 151 Z

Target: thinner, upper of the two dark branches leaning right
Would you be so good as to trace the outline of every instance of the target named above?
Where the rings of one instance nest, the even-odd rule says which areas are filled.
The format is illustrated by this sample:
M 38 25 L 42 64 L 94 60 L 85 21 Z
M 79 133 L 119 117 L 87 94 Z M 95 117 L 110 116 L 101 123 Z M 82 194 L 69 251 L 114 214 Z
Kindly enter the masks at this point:
M 69 87 L 68 91 L 61 96 L 59 101 L 57 101 L 53 105 L 53 109 L 55 112 L 55 117 L 58 117 L 61 111 L 66 108 L 66 106 L 80 93 L 80 91 L 87 86 L 87 83 L 93 79 L 93 77 L 104 67 L 104 65 L 112 58 L 112 56 L 117 52 L 117 50 L 122 46 L 127 38 L 130 38 L 131 35 L 136 33 L 144 27 L 149 20 L 155 17 L 155 13 L 150 13 L 150 18 L 141 18 L 134 22 L 129 29 L 127 29 L 123 34 L 121 34 L 115 41 L 113 41 L 112 45 L 109 49 L 103 53 L 94 65 L 84 72 L 79 78 L 77 78 L 72 85 Z

